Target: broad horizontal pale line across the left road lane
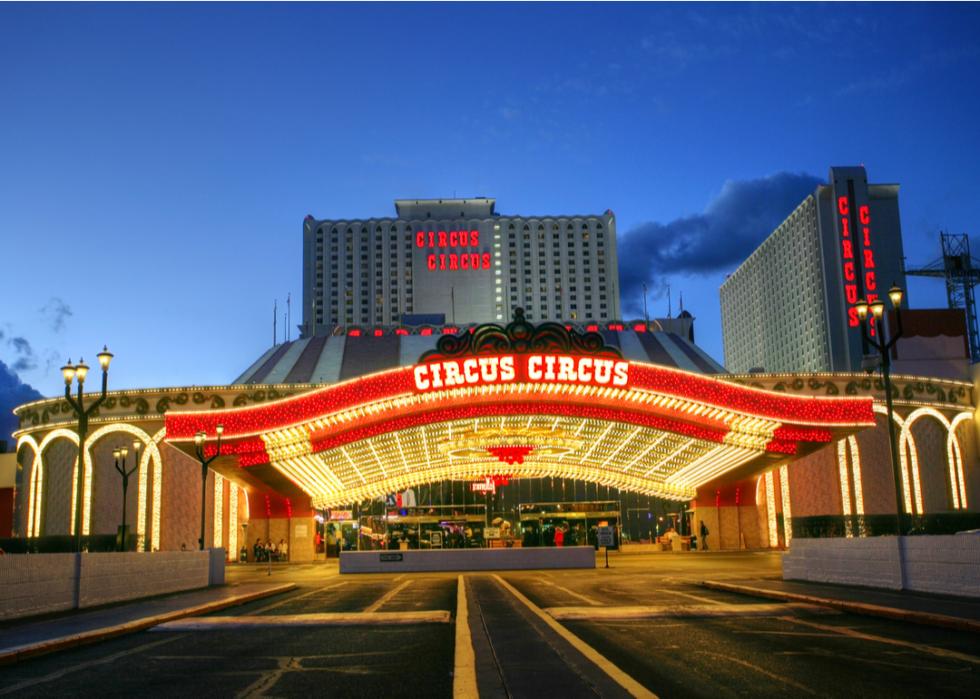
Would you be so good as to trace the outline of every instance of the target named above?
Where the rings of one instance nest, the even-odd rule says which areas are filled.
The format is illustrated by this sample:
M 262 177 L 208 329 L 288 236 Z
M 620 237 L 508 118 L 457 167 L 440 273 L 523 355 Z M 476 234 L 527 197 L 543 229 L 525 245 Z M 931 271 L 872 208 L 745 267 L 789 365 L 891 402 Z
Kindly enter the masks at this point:
M 320 614 L 272 614 L 269 616 L 214 616 L 178 619 L 150 631 L 220 631 L 289 626 L 375 626 L 392 624 L 448 624 L 446 610 L 428 612 L 322 612 Z

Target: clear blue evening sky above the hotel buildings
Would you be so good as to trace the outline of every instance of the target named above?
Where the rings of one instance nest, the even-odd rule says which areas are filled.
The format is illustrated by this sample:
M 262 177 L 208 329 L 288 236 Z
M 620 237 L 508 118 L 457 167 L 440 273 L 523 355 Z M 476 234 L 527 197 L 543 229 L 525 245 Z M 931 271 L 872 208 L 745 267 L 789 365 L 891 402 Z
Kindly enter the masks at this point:
M 303 217 L 398 197 L 609 208 L 623 240 L 758 208 L 761 239 L 863 163 L 925 263 L 977 232 L 978 30 L 970 4 L 2 4 L 0 361 L 45 395 L 103 343 L 114 388 L 230 381 L 301 292 Z M 719 359 L 750 248 L 649 270 Z

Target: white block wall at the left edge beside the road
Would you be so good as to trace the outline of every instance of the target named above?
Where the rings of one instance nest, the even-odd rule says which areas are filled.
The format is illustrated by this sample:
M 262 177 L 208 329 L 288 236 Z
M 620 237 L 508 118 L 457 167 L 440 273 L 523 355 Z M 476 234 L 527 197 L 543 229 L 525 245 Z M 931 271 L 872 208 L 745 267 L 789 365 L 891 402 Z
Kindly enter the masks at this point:
M 0 556 L 0 620 L 222 584 L 222 549 Z

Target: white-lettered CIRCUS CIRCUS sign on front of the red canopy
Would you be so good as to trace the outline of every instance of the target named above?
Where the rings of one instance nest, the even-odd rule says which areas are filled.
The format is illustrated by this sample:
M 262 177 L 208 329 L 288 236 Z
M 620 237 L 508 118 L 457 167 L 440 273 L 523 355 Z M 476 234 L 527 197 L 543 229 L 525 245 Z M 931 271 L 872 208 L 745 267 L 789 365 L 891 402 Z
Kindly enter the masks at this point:
M 447 359 L 419 364 L 413 372 L 418 391 L 515 381 L 616 387 L 629 384 L 627 361 L 563 354 L 502 354 Z

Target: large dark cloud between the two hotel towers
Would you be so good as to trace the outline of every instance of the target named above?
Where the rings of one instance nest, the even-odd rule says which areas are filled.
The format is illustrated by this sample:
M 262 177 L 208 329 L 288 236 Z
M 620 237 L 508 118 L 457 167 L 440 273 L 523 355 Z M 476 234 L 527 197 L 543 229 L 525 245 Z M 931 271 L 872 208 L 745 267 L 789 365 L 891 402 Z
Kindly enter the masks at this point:
M 627 231 L 618 241 L 624 307 L 642 310 L 644 282 L 656 298 L 672 275 L 734 269 L 822 182 L 791 172 L 729 180 L 703 213 Z

